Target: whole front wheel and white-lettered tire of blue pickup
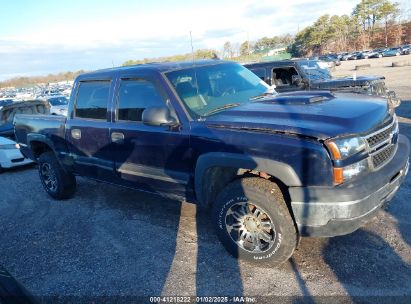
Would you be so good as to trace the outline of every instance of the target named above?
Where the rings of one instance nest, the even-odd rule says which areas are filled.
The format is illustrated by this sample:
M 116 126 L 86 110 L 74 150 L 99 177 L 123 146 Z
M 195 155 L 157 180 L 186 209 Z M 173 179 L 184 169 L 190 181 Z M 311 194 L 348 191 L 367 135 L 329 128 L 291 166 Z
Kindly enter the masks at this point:
M 236 258 L 279 265 L 297 246 L 284 196 L 269 180 L 249 177 L 230 183 L 217 196 L 212 214 L 221 243 Z

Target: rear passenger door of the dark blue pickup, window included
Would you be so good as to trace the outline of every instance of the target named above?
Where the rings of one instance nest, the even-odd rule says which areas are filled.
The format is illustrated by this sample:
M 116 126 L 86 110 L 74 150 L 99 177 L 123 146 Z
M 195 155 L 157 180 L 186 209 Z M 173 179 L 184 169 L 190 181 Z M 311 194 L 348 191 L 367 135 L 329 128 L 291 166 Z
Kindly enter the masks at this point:
M 114 177 L 107 114 L 111 83 L 111 80 L 80 81 L 72 116 L 66 124 L 69 159 L 75 172 L 100 180 Z

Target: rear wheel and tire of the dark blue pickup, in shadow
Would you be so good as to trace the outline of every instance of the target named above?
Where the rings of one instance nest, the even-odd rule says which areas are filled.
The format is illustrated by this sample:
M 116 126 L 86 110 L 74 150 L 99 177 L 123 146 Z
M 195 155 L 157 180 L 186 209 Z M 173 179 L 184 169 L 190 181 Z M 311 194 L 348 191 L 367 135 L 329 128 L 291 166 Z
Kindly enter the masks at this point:
M 38 165 L 41 184 L 52 198 L 62 200 L 73 196 L 76 178 L 61 167 L 53 152 L 41 154 Z

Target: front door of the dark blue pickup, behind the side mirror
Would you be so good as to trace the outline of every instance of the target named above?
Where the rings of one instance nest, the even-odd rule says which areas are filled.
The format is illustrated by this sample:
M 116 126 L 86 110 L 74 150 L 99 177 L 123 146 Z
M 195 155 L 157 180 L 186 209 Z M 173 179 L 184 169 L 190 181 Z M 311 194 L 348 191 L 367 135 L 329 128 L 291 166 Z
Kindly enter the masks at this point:
M 110 132 L 115 171 L 125 185 L 189 197 L 189 128 L 142 122 L 147 107 L 168 106 L 174 112 L 157 78 L 140 74 L 118 83 Z

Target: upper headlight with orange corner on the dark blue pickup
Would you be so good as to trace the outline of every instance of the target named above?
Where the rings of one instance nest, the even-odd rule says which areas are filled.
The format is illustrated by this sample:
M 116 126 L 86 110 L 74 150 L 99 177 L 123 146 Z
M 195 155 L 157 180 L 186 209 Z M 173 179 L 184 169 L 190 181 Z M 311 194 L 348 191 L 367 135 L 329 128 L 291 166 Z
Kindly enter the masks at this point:
M 361 137 L 330 140 L 325 143 L 334 160 L 344 160 L 365 149 L 365 140 Z

